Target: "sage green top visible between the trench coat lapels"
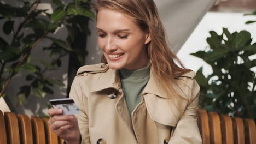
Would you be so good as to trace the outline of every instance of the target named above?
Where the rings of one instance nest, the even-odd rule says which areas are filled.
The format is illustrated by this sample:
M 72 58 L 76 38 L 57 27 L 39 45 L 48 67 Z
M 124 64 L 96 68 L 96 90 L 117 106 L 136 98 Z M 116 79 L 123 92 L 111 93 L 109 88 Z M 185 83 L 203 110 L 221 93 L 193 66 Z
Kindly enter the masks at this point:
M 150 65 L 137 70 L 120 69 L 119 73 L 126 104 L 131 115 L 141 102 L 142 91 L 149 80 Z

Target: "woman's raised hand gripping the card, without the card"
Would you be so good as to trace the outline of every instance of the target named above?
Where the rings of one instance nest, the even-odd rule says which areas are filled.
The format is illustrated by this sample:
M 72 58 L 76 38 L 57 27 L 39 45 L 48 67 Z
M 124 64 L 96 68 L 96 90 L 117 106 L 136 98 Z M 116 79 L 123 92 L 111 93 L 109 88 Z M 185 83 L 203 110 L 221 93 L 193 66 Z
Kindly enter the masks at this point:
M 80 131 L 77 118 L 74 115 L 62 115 L 62 109 L 51 108 L 48 110 L 50 119 L 48 121 L 51 131 L 53 131 L 66 143 L 79 143 Z

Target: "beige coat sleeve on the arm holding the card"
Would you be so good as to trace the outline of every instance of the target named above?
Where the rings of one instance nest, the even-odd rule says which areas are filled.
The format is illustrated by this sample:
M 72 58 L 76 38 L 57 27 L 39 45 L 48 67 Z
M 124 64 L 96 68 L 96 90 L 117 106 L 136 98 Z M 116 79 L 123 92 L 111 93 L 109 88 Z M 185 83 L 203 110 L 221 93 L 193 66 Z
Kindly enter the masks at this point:
M 79 83 L 79 77 L 76 76 L 69 93 L 69 98 L 72 98 L 82 113 L 75 115 L 78 119 L 80 135 L 83 144 L 90 144 L 89 126 L 88 126 L 88 97 L 84 95 L 83 88 Z

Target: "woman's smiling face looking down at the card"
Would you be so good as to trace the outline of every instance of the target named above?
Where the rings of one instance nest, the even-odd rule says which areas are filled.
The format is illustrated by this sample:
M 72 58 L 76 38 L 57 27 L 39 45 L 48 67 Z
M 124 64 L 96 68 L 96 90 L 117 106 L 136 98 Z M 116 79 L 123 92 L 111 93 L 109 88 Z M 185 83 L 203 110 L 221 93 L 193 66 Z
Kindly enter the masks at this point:
M 97 14 L 98 46 L 111 69 L 141 69 L 148 65 L 150 35 L 131 17 L 107 8 Z

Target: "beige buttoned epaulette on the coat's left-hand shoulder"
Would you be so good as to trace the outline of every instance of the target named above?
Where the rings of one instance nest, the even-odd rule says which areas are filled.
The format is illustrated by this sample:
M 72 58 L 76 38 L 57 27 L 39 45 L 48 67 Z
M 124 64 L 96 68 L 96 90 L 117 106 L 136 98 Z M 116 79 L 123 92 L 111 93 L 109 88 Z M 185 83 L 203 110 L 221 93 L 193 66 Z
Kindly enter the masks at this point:
M 77 71 L 77 76 L 86 76 L 88 74 L 104 73 L 108 70 L 108 64 L 99 63 L 92 65 L 85 65 L 80 67 Z

